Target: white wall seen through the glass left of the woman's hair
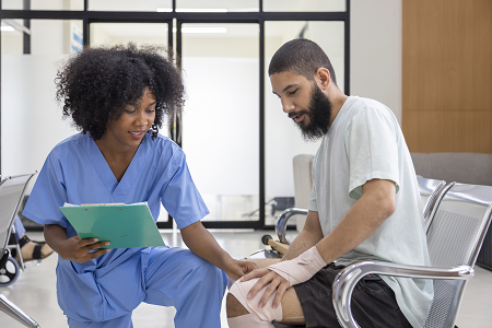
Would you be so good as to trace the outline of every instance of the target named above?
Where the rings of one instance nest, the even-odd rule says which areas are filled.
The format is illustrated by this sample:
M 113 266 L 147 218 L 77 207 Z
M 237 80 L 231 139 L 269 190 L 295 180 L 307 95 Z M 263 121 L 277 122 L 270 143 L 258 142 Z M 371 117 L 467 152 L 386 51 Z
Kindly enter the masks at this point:
M 2 56 L 2 175 L 39 171 L 51 148 L 75 132 L 55 101 L 60 58 Z

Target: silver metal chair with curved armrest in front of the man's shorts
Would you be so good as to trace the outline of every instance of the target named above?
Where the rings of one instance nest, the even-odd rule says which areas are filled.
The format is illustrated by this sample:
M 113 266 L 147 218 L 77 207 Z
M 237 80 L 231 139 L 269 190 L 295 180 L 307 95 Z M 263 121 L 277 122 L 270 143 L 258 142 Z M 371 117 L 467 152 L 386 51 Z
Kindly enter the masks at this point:
M 466 210 L 462 210 L 464 208 Z M 440 227 L 440 223 L 443 224 L 442 222 L 444 220 L 455 220 L 455 222 L 462 220 L 461 222 L 465 222 L 465 220 L 470 220 L 470 218 L 477 219 L 479 220 L 478 225 L 473 226 L 473 230 L 469 235 L 470 239 L 468 243 L 468 248 L 466 248 L 465 253 L 460 255 L 462 258 L 457 258 L 458 256 L 452 254 L 452 256 L 447 257 L 436 256 L 433 259 L 432 245 L 430 245 L 431 261 L 434 260 L 441 267 L 419 267 L 377 261 L 359 261 L 345 267 L 337 276 L 332 285 L 332 302 L 340 325 L 343 328 L 360 327 L 351 313 L 350 305 L 353 289 L 359 280 L 366 274 L 383 274 L 391 277 L 433 279 L 434 291 L 436 292 L 434 303 L 436 303 L 436 305 L 434 306 L 433 303 L 424 327 L 454 327 L 465 288 L 468 280 L 473 276 L 473 266 L 491 222 L 491 212 L 492 187 L 455 183 L 449 184 L 436 200 L 436 204 L 434 206 L 430 220 L 427 221 L 427 241 L 430 241 L 430 244 L 433 241 L 436 241 L 432 238 L 430 239 L 430 236 L 435 237 L 433 236 L 434 231 L 437 231 L 438 229 L 440 233 L 443 232 L 443 225 Z M 436 215 L 438 215 L 438 219 L 436 219 Z M 456 219 L 458 216 L 459 219 Z M 437 223 L 434 223 L 436 220 Z M 434 226 L 435 224 L 437 224 L 436 227 Z M 435 235 L 437 236 L 437 233 L 435 233 Z M 459 263 L 459 261 L 464 262 Z M 450 266 L 444 267 L 446 263 L 450 263 Z M 436 302 L 436 296 L 442 296 L 444 290 L 444 288 L 442 288 L 443 284 L 440 284 L 440 281 L 442 280 L 457 280 L 455 285 L 452 286 L 452 293 L 448 293 L 447 298 L 443 297 L 448 301 L 447 309 L 445 308 L 446 313 L 444 315 L 443 308 L 440 308 L 438 301 Z

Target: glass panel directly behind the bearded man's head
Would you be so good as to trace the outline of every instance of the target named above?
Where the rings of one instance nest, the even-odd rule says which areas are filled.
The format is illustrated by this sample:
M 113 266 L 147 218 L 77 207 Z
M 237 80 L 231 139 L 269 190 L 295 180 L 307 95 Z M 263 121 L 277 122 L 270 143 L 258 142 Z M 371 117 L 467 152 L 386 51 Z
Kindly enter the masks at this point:
M 343 91 L 343 22 L 265 22 L 265 174 L 268 204 L 266 211 L 270 211 L 266 218 L 266 224 L 274 224 L 274 218 L 281 211 L 294 206 L 293 157 L 298 154 L 315 154 L 320 144 L 320 140 L 305 142 L 295 122 L 282 112 L 279 98 L 272 93 L 268 77 L 271 57 L 280 46 L 291 39 L 301 36 L 312 39 L 328 55 L 333 66 L 337 84 Z M 295 206 L 302 207 L 302 204 Z

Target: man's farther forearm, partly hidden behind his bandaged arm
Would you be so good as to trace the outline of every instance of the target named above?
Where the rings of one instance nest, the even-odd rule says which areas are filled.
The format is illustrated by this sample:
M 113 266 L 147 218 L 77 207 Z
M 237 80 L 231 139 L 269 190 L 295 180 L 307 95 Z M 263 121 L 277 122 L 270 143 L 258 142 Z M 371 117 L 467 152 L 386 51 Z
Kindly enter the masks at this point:
M 289 250 L 283 256 L 282 260 L 289 260 L 296 258 L 314 245 L 316 245 L 323 238 L 323 230 L 319 224 L 318 212 L 308 211 L 306 216 L 306 223 L 302 232 L 295 237 Z

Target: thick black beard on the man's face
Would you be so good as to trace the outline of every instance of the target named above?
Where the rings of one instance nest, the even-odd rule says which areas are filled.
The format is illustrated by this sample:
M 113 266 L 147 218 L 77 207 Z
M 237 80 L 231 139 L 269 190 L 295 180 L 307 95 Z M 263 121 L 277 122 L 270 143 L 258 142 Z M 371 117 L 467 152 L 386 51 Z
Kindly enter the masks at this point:
M 294 117 L 300 114 L 307 115 L 309 122 L 305 125 L 304 121 L 300 121 L 296 126 L 301 129 L 305 141 L 316 141 L 328 132 L 331 107 L 330 99 L 323 93 L 318 85 L 314 84 L 308 110 L 304 109 L 290 113 L 289 117 Z

